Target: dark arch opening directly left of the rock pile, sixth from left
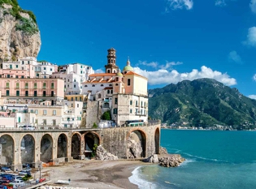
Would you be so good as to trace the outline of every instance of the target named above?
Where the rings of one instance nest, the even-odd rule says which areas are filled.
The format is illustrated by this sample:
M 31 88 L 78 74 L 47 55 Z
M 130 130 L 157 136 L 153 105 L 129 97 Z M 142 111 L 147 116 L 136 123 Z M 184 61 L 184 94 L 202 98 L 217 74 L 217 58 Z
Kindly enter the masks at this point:
M 85 132 L 83 138 L 85 140 L 85 157 L 91 157 L 94 144 L 99 145 L 101 142 L 100 136 L 96 132 L 89 131 Z

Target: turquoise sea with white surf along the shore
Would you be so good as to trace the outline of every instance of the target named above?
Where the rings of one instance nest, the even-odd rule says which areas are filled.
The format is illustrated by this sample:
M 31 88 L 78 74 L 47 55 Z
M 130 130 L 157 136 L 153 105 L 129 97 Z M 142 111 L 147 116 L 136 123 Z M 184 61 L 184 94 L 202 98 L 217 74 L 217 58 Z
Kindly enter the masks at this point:
M 161 146 L 186 161 L 133 170 L 129 180 L 140 189 L 256 189 L 256 131 L 162 129 Z

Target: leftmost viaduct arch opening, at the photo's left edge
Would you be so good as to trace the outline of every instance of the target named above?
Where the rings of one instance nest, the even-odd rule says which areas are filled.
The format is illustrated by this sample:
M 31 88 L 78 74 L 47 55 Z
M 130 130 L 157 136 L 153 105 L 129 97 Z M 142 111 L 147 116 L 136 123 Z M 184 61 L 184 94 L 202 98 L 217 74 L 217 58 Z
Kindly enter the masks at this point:
M 13 165 L 15 161 L 15 152 L 18 153 L 18 149 L 15 150 L 15 140 L 9 134 L 3 134 L 0 136 L 0 144 L 2 144 L 2 163 L 3 165 Z

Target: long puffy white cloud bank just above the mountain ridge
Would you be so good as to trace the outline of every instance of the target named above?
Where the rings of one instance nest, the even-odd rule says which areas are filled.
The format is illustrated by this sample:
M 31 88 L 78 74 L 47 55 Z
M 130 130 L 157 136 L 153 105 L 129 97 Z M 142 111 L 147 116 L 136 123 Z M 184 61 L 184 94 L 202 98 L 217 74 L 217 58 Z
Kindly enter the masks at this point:
M 193 80 L 199 78 L 216 79 L 217 81 L 228 86 L 236 84 L 236 79 L 231 78 L 228 74 L 221 73 L 219 71 L 212 71 L 209 67 L 205 66 L 201 67 L 201 71 L 193 69 L 193 71 L 189 73 L 179 73 L 176 70 L 167 71 L 165 69 L 160 69 L 158 71 L 146 71 L 141 70 L 140 67 L 134 67 L 134 71 L 148 78 L 150 85 L 171 83 L 176 84 L 185 79 Z

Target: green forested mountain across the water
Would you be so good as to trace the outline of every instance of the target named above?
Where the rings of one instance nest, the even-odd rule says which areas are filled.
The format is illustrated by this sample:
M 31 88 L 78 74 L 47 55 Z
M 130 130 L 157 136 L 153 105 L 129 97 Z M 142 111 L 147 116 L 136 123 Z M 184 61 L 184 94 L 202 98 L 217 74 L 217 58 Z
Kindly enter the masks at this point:
M 149 90 L 149 116 L 168 126 L 254 128 L 256 101 L 215 79 L 184 80 Z

